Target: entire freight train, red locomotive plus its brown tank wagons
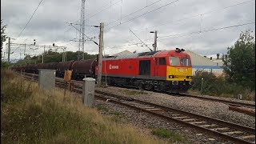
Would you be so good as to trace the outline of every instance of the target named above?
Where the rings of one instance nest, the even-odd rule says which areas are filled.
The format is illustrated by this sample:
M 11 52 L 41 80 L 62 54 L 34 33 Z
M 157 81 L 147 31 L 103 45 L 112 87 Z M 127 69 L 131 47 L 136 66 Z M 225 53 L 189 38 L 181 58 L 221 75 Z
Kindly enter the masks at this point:
M 190 55 L 183 49 L 150 51 L 140 54 L 108 56 L 102 60 L 102 80 L 118 86 L 138 89 L 182 92 L 192 85 Z M 38 74 L 38 69 L 56 70 L 56 76 L 64 76 L 65 70 L 73 70 L 73 79 L 96 78 L 96 59 L 68 62 L 40 63 L 14 67 L 14 70 Z

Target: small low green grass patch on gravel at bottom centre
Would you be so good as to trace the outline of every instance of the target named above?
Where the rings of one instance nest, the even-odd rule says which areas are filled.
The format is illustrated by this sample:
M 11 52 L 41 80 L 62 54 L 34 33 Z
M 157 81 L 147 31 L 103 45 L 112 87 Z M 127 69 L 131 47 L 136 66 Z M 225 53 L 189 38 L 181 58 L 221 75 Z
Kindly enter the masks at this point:
M 162 128 L 154 128 L 152 129 L 151 133 L 157 135 L 160 138 L 167 138 L 170 140 L 170 142 L 188 143 L 188 141 L 184 136 L 182 136 L 182 134 L 175 133 L 174 131 Z

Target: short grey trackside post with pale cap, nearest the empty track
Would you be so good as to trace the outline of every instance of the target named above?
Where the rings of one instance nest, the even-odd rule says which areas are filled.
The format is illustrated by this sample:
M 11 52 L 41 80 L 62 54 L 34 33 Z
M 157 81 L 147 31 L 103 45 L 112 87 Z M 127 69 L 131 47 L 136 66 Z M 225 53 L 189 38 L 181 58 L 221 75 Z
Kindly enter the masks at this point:
M 94 104 L 95 79 L 83 78 L 82 80 L 82 102 L 85 106 L 91 107 Z

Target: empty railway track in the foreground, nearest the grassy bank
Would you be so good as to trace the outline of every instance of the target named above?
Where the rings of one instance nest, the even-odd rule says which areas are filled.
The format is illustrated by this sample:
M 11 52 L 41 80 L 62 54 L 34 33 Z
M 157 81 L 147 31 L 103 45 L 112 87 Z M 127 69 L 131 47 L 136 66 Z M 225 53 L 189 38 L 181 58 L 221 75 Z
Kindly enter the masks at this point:
M 34 81 L 36 81 L 36 78 L 34 78 Z M 56 86 L 65 87 L 65 83 L 62 81 L 62 78 L 56 79 Z M 80 94 L 82 93 L 81 82 L 74 82 L 74 91 Z M 241 126 L 216 118 L 177 110 L 151 102 L 144 102 L 134 98 L 125 98 L 116 94 L 109 94 L 98 90 L 95 90 L 95 98 L 103 99 L 104 101 L 107 100 L 108 102 L 113 102 L 122 106 L 128 106 L 138 111 L 143 111 L 160 118 L 178 122 L 182 125 L 202 130 L 207 134 L 214 134 L 219 138 L 223 138 L 231 142 L 255 143 L 255 129 L 247 126 Z

